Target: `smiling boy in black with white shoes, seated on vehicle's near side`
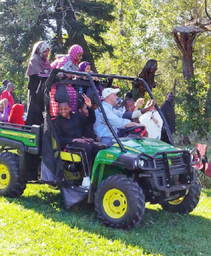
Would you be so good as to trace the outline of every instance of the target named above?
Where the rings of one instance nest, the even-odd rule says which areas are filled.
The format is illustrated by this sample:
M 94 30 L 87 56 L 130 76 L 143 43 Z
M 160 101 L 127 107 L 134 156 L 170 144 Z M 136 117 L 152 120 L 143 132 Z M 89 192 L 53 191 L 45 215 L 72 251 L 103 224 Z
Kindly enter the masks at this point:
M 100 148 L 93 143 L 94 139 L 83 137 L 82 129 L 86 129 L 86 124 L 78 113 L 71 112 L 70 96 L 67 94 L 65 85 L 58 86 L 54 99 L 55 102 L 59 103 L 59 114 L 53 120 L 53 125 L 60 141 L 60 150 L 81 156 L 83 164 L 82 186 L 84 189 L 88 189 L 93 161 Z M 86 104 L 88 104 L 88 100 L 84 96 Z

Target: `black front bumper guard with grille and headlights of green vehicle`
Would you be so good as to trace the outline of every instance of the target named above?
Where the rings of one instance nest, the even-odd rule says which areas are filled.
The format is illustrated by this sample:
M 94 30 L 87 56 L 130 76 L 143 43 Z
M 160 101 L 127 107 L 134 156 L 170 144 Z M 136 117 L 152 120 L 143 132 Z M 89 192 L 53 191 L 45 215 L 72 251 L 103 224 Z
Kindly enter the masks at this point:
M 196 181 L 195 168 L 199 161 L 194 161 L 197 148 L 156 152 L 153 155 L 140 153 L 137 166 L 141 170 L 139 177 L 148 177 L 153 190 L 173 191 L 189 189 Z

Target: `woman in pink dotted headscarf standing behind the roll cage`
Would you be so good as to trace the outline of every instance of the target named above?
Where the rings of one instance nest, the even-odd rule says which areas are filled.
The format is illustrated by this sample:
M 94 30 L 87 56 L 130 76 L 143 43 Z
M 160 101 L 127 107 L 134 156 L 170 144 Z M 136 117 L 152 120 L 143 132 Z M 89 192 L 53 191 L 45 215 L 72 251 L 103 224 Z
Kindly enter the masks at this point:
M 83 48 L 80 45 L 74 44 L 68 51 L 68 55 L 62 57 L 56 57 L 56 60 L 51 63 L 52 68 L 61 68 L 66 71 L 77 71 L 78 63 L 82 60 Z M 71 79 L 71 74 L 66 74 Z M 71 84 L 66 85 L 68 95 L 71 97 L 71 111 L 76 112 L 77 110 L 77 93 Z M 58 104 L 54 101 L 54 94 L 56 92 L 56 86 L 51 89 L 51 113 L 55 116 L 58 113 Z

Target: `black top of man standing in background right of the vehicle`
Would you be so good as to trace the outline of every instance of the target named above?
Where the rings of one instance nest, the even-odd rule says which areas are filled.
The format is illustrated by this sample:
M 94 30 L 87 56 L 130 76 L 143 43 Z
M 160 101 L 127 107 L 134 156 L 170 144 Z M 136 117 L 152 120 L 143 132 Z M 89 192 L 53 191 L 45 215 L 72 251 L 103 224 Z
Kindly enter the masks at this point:
M 171 132 L 175 132 L 175 112 L 174 112 L 174 105 L 171 102 L 165 101 L 161 105 L 161 111 L 165 119 L 167 120 L 169 129 Z

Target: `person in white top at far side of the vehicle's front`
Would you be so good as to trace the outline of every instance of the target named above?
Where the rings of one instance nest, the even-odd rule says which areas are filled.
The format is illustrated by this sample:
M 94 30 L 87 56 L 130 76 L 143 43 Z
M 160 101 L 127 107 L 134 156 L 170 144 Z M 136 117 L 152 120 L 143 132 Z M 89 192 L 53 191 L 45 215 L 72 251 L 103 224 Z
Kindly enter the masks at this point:
M 161 118 L 160 114 L 157 112 L 157 109 L 151 106 L 151 100 L 146 102 L 145 108 L 149 106 L 151 108 L 140 116 L 140 123 L 146 126 L 148 137 L 160 140 L 163 119 Z

